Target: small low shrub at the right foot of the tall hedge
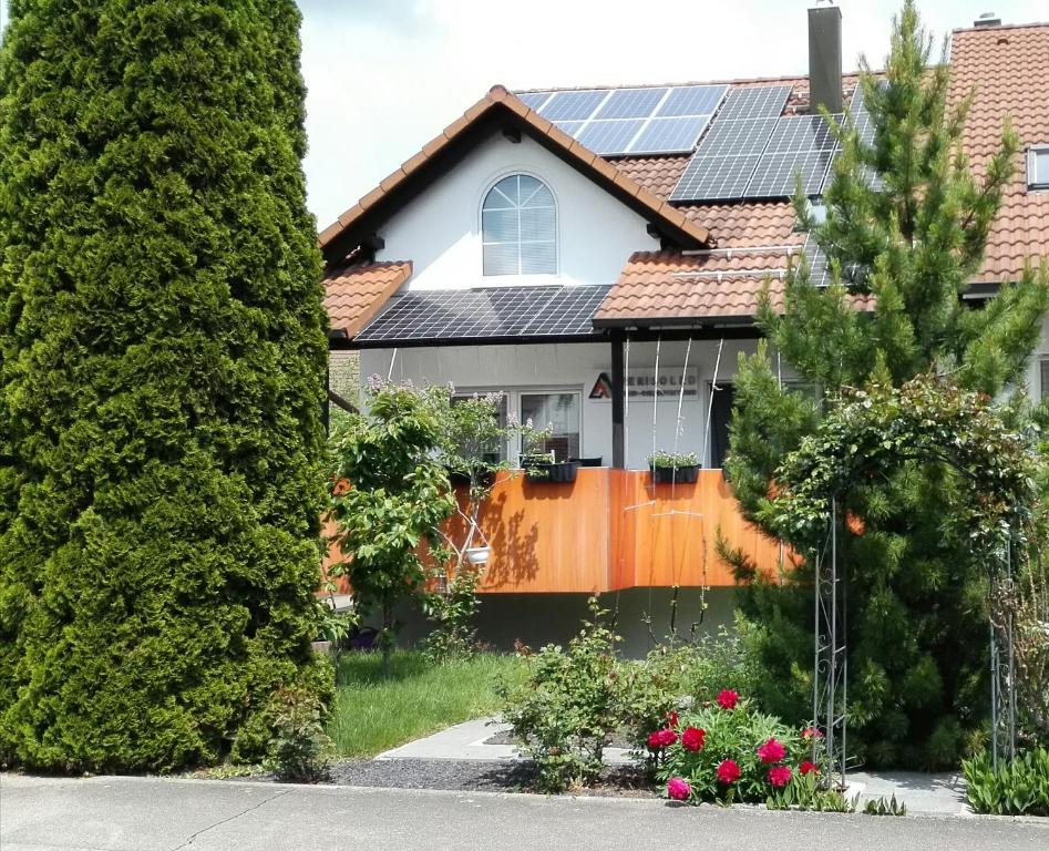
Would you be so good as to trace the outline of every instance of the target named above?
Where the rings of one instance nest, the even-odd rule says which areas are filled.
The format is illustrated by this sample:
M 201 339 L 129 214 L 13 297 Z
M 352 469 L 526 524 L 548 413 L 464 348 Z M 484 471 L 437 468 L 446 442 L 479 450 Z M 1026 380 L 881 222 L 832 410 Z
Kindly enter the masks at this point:
M 267 714 L 274 737 L 265 765 L 278 780 L 313 783 L 328 775 L 335 745 L 325 732 L 328 710 L 317 695 L 301 688 L 278 689 Z

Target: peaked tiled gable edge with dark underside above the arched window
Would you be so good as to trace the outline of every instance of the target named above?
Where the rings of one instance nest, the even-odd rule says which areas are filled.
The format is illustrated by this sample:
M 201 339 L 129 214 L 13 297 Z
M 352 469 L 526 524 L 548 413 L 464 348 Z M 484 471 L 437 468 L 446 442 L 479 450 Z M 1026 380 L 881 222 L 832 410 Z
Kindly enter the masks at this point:
M 443 174 L 450 161 L 496 131 L 500 121 L 508 121 L 512 126 L 527 133 L 682 247 L 702 246 L 710 239 L 709 232 L 701 225 L 640 186 L 607 160 L 585 148 L 502 85 L 494 85 L 460 119 L 320 233 L 320 247 L 326 258 L 339 262 L 357 247 L 361 236 L 374 230 L 379 223 Z

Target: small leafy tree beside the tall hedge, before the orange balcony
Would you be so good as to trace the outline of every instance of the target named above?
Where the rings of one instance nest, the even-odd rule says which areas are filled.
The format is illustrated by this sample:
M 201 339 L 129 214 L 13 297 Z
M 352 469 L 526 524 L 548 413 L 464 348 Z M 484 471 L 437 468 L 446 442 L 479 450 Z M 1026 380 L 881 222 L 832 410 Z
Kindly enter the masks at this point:
M 446 392 L 373 382 L 367 413 L 349 417 L 332 441 L 332 543 L 343 555 L 332 571 L 349 577 L 359 612 L 379 612 L 387 675 L 394 608 L 422 591 L 425 558 L 445 557 L 441 525 L 455 502 L 439 459 L 436 411 Z

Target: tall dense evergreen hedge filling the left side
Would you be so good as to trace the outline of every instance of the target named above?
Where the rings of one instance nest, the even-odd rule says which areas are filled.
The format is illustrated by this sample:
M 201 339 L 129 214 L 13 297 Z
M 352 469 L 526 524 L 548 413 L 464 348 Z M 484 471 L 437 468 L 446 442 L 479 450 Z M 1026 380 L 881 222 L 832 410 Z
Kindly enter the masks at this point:
M 299 13 L 10 12 L 0 756 L 210 761 L 277 684 L 319 676 L 326 341 Z

